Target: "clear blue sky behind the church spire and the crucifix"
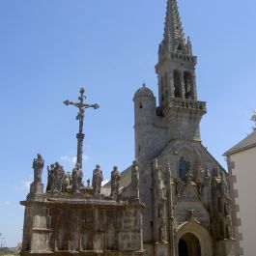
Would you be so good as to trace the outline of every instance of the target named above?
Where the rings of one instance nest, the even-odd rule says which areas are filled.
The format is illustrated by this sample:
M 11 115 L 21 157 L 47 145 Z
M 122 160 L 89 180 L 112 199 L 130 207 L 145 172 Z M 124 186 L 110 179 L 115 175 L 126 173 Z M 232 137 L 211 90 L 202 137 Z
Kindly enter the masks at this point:
M 185 34 L 198 56 L 197 90 L 208 114 L 203 144 L 226 168 L 222 154 L 253 126 L 256 108 L 255 0 L 180 0 Z M 0 233 L 21 241 L 32 160 L 60 161 L 71 171 L 76 154 L 76 100 L 86 89 L 84 180 L 100 163 L 134 158 L 133 103 L 145 82 L 156 94 L 155 65 L 165 0 L 0 1 Z M 43 180 L 45 182 L 46 171 Z

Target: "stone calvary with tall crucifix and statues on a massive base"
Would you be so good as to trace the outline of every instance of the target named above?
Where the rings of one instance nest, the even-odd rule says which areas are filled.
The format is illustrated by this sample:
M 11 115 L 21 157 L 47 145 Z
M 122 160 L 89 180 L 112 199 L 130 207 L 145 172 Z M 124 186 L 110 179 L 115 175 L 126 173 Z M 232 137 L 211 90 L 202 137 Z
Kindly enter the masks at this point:
M 132 164 L 132 183 L 120 190 L 121 175 L 114 166 L 111 189 L 102 189 L 100 165 L 93 171 L 93 183 L 83 185 L 82 145 L 84 110 L 97 104 L 84 104 L 84 89 L 78 107 L 77 160 L 71 173 L 59 162 L 47 166 L 46 191 L 43 192 L 44 160 L 33 160 L 34 182 L 25 206 L 21 255 L 142 255 L 142 211 L 139 200 L 138 163 Z M 104 190 L 104 191 L 102 191 Z M 125 192 L 130 191 L 130 192 Z

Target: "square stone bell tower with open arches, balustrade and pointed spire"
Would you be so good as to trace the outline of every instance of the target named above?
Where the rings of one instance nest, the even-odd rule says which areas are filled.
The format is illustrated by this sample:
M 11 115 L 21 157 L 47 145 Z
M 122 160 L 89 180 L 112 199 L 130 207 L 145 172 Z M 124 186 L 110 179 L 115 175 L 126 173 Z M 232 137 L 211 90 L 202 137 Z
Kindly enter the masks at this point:
M 206 102 L 197 100 L 196 63 L 191 41 L 185 39 L 177 0 L 167 0 L 156 74 L 159 112 L 168 119 L 170 140 L 201 140 L 199 123 L 207 111 Z

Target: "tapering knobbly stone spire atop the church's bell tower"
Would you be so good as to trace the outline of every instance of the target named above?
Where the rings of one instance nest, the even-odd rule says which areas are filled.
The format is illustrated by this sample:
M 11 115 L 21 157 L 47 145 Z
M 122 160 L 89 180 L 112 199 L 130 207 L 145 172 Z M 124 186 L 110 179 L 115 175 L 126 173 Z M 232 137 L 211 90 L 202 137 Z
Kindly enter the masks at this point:
M 164 39 L 172 51 L 175 51 L 179 43 L 185 42 L 185 34 L 177 0 L 167 0 Z

